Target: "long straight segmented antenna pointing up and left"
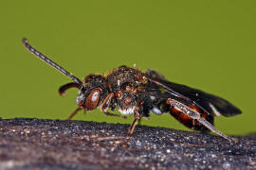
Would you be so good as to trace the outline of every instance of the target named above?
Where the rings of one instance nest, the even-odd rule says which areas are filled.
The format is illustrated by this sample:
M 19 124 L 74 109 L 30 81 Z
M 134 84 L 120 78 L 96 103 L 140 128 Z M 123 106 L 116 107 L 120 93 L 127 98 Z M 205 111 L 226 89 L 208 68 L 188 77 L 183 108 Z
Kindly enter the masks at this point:
M 62 74 L 64 74 L 64 76 L 69 76 L 73 81 L 75 81 L 76 83 L 78 83 L 79 85 L 82 86 L 82 81 L 76 77 L 76 76 L 72 76 L 69 72 L 67 72 L 66 70 L 64 70 L 63 67 L 61 67 L 59 64 L 57 64 L 56 62 L 54 62 L 53 60 L 47 58 L 44 54 L 42 54 L 41 52 L 39 52 L 37 49 L 35 49 L 34 47 L 32 47 L 29 42 L 27 42 L 26 38 L 22 39 L 23 44 L 26 46 L 27 50 L 30 51 L 32 54 L 34 54 L 36 57 L 38 57 L 39 59 L 42 59 L 44 61 L 46 61 L 47 64 L 51 65 L 52 67 L 56 68 L 59 72 L 61 72 Z

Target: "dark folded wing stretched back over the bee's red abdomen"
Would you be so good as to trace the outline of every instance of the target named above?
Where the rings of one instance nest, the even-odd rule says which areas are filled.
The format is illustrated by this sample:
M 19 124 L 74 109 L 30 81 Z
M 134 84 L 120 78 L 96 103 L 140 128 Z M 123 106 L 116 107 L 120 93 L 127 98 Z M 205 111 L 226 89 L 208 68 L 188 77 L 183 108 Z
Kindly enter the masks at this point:
M 147 90 L 150 93 L 155 93 L 155 95 L 163 98 L 168 98 L 168 96 L 173 97 L 178 101 L 182 100 L 181 102 L 185 102 L 187 105 L 196 105 L 211 115 L 234 116 L 242 112 L 226 99 L 185 85 L 170 82 L 154 70 L 147 70 L 146 75 L 151 82 Z

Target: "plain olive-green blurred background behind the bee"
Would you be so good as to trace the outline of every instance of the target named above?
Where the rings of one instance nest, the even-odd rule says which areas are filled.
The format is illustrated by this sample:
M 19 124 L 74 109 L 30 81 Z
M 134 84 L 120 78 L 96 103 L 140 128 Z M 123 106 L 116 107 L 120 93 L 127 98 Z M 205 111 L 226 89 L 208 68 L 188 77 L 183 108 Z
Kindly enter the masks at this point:
M 24 48 L 37 49 L 83 78 L 125 64 L 227 98 L 243 110 L 218 117 L 228 134 L 256 131 L 256 1 L 1 1 L 2 118 L 66 119 L 77 108 L 70 79 Z M 131 123 L 99 110 L 74 119 Z M 186 129 L 169 114 L 142 124 Z

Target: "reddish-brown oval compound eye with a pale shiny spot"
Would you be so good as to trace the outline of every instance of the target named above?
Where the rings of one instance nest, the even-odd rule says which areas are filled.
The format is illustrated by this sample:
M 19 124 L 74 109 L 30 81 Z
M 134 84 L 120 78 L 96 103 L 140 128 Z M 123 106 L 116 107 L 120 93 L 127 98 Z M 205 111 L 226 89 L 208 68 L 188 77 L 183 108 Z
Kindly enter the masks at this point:
M 101 96 L 100 90 L 94 90 L 92 93 L 90 93 L 85 100 L 85 108 L 87 110 L 94 110 L 97 108 L 99 99 Z

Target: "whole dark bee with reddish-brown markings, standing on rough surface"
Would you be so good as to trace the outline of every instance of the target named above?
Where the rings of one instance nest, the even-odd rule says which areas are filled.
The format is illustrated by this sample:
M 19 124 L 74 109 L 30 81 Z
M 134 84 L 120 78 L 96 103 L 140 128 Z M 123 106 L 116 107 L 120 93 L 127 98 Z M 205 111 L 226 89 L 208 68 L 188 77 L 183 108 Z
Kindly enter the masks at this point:
M 33 55 L 73 80 L 60 87 L 61 95 L 70 88 L 79 90 L 76 99 L 78 108 L 72 112 L 68 120 L 71 120 L 79 110 L 100 109 L 106 115 L 121 118 L 132 115 L 134 121 L 128 130 L 129 138 L 137 121 L 142 117 L 149 117 L 150 112 L 158 115 L 170 113 L 186 127 L 204 132 L 211 130 L 229 142 L 237 142 L 236 138 L 229 137 L 213 126 L 214 116 L 229 117 L 241 113 L 241 110 L 226 99 L 171 82 L 155 70 L 148 69 L 143 73 L 125 65 L 113 69 L 107 76 L 90 74 L 80 80 L 32 47 L 27 39 L 24 38 L 22 42 Z M 121 115 L 109 112 L 116 109 Z

